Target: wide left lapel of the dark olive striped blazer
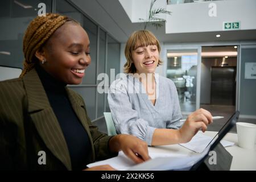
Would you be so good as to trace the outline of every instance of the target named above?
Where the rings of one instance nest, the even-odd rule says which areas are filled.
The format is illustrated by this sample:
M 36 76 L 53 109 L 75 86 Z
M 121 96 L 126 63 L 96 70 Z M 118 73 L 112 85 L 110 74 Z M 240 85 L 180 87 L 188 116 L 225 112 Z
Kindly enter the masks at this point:
M 59 122 L 49 104 L 42 82 L 35 69 L 23 77 L 28 98 L 28 114 L 36 130 L 53 155 L 59 159 L 68 170 L 72 169 L 68 146 Z

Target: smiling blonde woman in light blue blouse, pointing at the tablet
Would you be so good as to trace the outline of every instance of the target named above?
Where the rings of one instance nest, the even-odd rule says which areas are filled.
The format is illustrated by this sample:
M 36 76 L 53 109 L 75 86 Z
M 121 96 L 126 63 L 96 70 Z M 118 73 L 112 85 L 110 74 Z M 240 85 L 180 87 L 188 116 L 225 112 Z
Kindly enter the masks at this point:
M 117 133 L 131 134 L 148 146 L 189 142 L 200 129 L 207 130 L 212 114 L 199 109 L 182 118 L 179 97 L 172 80 L 155 74 L 158 39 L 147 30 L 135 31 L 127 40 L 126 76 L 115 80 L 108 101 Z

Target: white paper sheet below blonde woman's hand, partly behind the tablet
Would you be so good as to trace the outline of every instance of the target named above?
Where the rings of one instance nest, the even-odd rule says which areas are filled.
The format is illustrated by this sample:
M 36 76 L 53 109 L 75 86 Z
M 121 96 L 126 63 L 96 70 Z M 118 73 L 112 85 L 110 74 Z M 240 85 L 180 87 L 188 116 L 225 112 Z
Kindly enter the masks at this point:
M 197 153 L 201 153 L 205 150 L 205 148 L 208 146 L 208 144 L 212 141 L 213 137 L 209 137 L 207 135 L 203 135 L 200 132 L 197 133 L 190 142 L 188 143 L 181 143 L 180 145 L 188 148 L 189 150 L 192 150 Z M 220 142 L 222 146 L 228 147 L 233 146 L 233 142 L 229 142 L 226 140 L 221 140 Z

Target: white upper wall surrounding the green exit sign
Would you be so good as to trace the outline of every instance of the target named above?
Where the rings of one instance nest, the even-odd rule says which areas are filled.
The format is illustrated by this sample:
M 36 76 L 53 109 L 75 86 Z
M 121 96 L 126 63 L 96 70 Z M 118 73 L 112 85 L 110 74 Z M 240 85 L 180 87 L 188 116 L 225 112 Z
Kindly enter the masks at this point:
M 210 3 L 216 4 L 216 17 L 208 14 Z M 172 15 L 166 17 L 166 34 L 222 31 L 223 22 L 237 21 L 241 22 L 241 30 L 256 29 L 255 0 L 184 3 L 167 5 L 167 10 Z

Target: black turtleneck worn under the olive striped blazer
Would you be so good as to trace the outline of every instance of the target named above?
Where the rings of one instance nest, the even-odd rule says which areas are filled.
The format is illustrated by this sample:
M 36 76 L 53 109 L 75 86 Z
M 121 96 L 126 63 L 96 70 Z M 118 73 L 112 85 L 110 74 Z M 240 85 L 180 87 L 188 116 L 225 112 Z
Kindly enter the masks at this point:
M 57 81 L 39 65 L 36 66 L 36 72 L 38 72 L 49 103 L 63 131 L 71 157 L 72 169 L 86 168 L 91 151 L 90 140 L 71 106 L 65 89 L 67 84 Z

